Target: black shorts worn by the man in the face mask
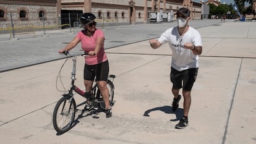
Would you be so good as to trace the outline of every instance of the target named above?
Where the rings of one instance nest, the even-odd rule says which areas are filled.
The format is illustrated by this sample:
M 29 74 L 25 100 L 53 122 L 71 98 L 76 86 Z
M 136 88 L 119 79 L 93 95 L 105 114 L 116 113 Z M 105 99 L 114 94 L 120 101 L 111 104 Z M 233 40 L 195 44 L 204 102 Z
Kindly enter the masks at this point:
M 174 89 L 183 88 L 183 90 L 191 91 L 197 78 L 198 68 L 182 70 L 181 72 L 171 67 L 170 79 Z M 183 86 L 182 86 L 183 82 Z

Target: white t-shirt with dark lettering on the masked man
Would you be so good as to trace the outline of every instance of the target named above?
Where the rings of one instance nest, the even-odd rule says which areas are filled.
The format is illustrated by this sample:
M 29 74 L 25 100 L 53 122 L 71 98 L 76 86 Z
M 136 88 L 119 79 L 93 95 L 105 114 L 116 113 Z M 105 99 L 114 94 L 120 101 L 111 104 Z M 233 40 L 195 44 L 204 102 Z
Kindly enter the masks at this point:
M 180 36 L 177 27 L 166 30 L 158 41 L 161 44 L 168 43 L 173 51 L 171 66 L 179 71 L 198 68 L 198 56 L 193 54 L 190 49 L 185 49 L 185 43 L 193 43 L 195 46 L 202 46 L 202 38 L 195 28 L 189 27 L 189 30 Z

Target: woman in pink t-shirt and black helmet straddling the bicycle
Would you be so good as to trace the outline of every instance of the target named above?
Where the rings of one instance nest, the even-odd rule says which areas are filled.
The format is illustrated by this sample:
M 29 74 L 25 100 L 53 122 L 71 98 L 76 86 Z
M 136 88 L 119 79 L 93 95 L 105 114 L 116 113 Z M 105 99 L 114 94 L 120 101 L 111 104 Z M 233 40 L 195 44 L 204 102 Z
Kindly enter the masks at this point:
M 84 13 L 80 17 L 80 23 L 83 25 L 84 30 L 77 33 L 77 36 L 75 36 L 64 49 L 59 49 L 59 53 L 69 51 L 81 42 L 83 51 L 89 55 L 85 57 L 85 67 L 83 71 L 85 91 L 88 92 L 92 89 L 93 80 L 96 77 L 101 95 L 103 95 L 105 102 L 106 117 L 111 117 L 112 109 L 109 104 L 109 91 L 106 85 L 109 64 L 104 50 L 105 35 L 102 30 L 96 29 L 95 18 L 95 15 L 92 13 Z

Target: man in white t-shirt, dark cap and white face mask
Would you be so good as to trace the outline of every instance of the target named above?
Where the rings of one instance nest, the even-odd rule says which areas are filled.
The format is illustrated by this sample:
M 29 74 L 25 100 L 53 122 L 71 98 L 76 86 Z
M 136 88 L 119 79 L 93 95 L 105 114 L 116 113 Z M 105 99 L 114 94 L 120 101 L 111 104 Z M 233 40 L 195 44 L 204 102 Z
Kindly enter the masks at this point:
M 180 8 L 176 14 L 177 27 L 166 30 L 158 40 L 150 40 L 153 49 L 159 48 L 162 44 L 168 43 L 173 51 L 171 61 L 170 79 L 173 83 L 172 92 L 173 111 L 179 107 L 179 90 L 182 88 L 184 97 L 184 116 L 175 126 L 176 129 L 183 129 L 189 124 L 188 114 L 191 104 L 191 90 L 198 72 L 198 55 L 202 54 L 202 38 L 197 30 L 190 27 L 190 11 L 187 8 Z M 183 85 L 182 85 L 183 84 Z

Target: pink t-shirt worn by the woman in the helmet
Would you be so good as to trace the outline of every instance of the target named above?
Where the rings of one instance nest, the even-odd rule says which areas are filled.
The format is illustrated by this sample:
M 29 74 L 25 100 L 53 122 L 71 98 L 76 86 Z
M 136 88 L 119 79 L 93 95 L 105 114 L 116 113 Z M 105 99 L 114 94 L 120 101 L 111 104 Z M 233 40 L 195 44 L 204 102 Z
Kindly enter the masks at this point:
M 82 46 L 83 51 L 85 51 L 87 53 L 89 51 L 94 51 L 94 49 L 96 47 L 97 38 L 105 37 L 102 30 L 98 30 L 98 29 L 95 30 L 95 33 L 91 37 L 83 34 L 84 32 L 85 32 L 85 30 L 82 30 L 79 33 L 77 33 L 77 38 L 79 38 L 79 40 L 81 41 L 81 46 Z M 108 57 L 106 56 L 106 53 L 104 50 L 104 44 L 103 44 L 102 48 L 100 48 L 100 51 L 98 54 L 96 54 L 96 56 L 86 56 L 85 57 L 85 64 L 95 65 L 95 64 L 100 64 L 101 62 L 105 62 L 107 60 L 108 60 Z

